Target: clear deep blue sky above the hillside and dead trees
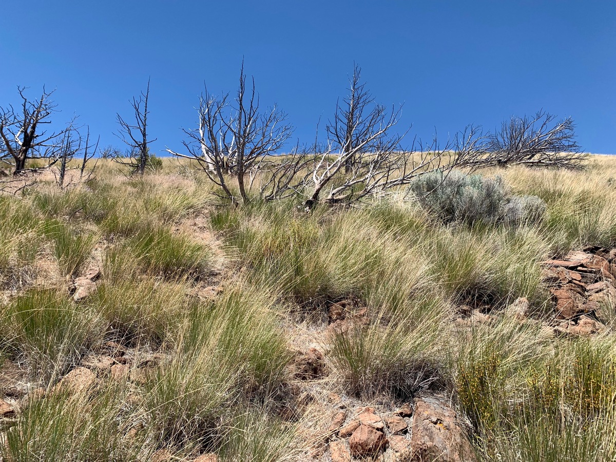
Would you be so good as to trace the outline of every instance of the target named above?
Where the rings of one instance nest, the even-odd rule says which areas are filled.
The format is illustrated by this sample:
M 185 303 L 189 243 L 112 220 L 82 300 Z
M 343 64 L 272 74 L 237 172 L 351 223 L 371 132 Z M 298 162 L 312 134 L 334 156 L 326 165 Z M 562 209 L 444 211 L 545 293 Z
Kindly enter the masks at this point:
M 235 91 L 244 57 L 302 141 L 355 61 L 379 102 L 404 103 L 411 135 L 544 108 L 573 117 L 585 150 L 616 153 L 614 0 L 2 0 L 0 12 L 0 105 L 18 84 L 57 87 L 56 120 L 80 115 L 103 145 L 121 145 L 115 113 L 128 117 L 151 77 L 152 148 L 179 149 L 204 81 Z

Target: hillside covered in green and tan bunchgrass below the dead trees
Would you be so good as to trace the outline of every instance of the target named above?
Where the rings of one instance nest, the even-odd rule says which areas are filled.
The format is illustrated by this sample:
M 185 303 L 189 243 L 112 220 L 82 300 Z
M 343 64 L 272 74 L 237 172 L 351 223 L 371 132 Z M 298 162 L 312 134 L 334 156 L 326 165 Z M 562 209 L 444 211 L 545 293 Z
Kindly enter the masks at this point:
M 310 212 L 221 206 L 204 173 L 161 163 L 129 179 L 100 160 L 94 183 L 0 197 L 7 460 L 308 460 L 317 416 L 428 392 L 468 418 L 478 460 L 616 455 L 614 304 L 601 333 L 553 336 L 541 264 L 616 247 L 611 158 L 426 174 Z M 55 391 L 78 367 L 96 386 Z

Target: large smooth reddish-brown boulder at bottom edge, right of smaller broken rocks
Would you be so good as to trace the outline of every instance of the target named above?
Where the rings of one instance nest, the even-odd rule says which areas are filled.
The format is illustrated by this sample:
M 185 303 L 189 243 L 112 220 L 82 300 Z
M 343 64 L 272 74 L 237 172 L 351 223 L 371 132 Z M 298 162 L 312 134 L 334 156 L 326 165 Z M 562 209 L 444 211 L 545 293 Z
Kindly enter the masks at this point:
M 413 461 L 471 462 L 474 452 L 458 416 L 445 397 L 417 399 L 413 414 Z

